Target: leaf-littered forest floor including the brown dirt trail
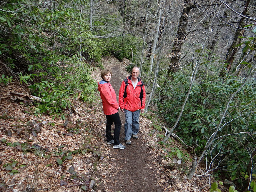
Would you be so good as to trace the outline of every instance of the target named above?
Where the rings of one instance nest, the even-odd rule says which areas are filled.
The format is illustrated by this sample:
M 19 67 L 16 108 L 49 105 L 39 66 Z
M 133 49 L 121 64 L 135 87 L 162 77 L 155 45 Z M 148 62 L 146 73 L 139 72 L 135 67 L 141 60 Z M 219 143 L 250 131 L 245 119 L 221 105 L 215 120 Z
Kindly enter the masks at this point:
M 129 74 L 114 57 L 103 58 L 102 65 L 112 71 L 110 83 L 118 97 L 122 80 Z M 101 80 L 100 71 L 97 67 L 92 71 L 96 82 Z M 119 150 L 107 144 L 100 99 L 90 105 L 72 100 L 81 116 L 74 114 L 64 127 L 60 117 L 34 116 L 33 105 L 16 100 L 9 92 L 30 94 L 18 82 L 0 86 L 0 191 L 209 191 L 208 176 L 186 178 L 192 156 L 184 146 L 175 139 L 168 146 L 158 144 L 164 133 L 154 125 L 164 126 L 164 122 L 154 113 L 149 113 L 150 119 L 140 116 L 139 139 L 131 139 L 127 146 L 125 118 L 119 111 L 120 142 L 126 146 Z M 99 92 L 95 94 L 99 98 Z M 171 149 L 182 151 L 181 164 L 172 161 L 177 156 L 167 157 Z M 198 168 L 196 173 L 202 172 Z

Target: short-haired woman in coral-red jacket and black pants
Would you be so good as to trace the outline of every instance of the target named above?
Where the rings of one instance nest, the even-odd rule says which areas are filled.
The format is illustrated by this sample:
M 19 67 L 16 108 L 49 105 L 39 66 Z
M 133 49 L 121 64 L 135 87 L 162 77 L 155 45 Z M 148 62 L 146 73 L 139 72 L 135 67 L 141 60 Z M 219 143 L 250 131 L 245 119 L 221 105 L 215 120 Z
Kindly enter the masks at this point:
M 120 110 L 119 104 L 117 103 L 116 93 L 109 83 L 112 73 L 108 69 L 103 69 L 100 73 L 102 80 L 98 83 L 98 90 L 102 99 L 103 112 L 107 117 L 106 123 L 106 137 L 108 144 L 114 144 L 113 148 L 124 149 L 119 141 L 119 135 L 121 130 L 121 120 L 118 111 Z M 114 137 L 111 134 L 111 126 L 115 124 Z

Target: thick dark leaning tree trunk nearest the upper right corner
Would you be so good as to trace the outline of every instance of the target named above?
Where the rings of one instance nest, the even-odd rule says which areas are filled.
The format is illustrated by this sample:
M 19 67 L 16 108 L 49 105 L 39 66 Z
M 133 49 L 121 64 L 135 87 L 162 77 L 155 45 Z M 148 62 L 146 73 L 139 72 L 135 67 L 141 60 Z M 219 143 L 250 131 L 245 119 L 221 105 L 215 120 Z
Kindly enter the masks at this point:
M 247 8 L 249 6 L 250 1 L 251 0 L 246 1 L 245 8 L 242 12 L 242 15 L 244 15 L 244 16 L 247 14 Z M 237 26 L 237 30 L 235 32 L 234 38 L 233 38 L 233 42 L 232 42 L 230 48 L 227 49 L 227 56 L 225 58 L 224 68 L 220 71 L 220 77 L 225 76 L 225 74 L 227 72 L 229 72 L 231 69 L 233 61 L 235 59 L 235 54 L 237 53 L 237 50 L 238 50 L 237 44 L 239 44 L 241 42 L 240 37 L 243 36 L 244 32 L 245 32 L 245 30 L 243 29 L 244 25 L 245 25 L 244 21 L 245 21 L 245 18 L 241 17 L 239 24 Z

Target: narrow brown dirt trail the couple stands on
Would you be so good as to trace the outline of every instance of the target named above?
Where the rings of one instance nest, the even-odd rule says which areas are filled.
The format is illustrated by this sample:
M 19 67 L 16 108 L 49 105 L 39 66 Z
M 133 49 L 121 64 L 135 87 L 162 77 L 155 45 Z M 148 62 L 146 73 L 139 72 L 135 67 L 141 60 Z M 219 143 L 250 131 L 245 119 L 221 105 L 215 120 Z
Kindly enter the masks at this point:
M 119 65 L 115 65 L 111 68 L 112 79 L 111 85 L 117 94 L 119 94 L 119 88 L 125 76 L 120 72 Z M 119 111 L 119 115 L 122 121 L 122 128 L 120 133 L 120 142 L 124 141 L 124 113 Z M 143 129 L 143 127 L 140 127 Z M 151 154 L 146 147 L 146 140 L 143 138 L 143 134 L 139 133 L 139 139 L 134 140 L 131 138 L 132 144 L 126 146 L 124 150 L 111 149 L 113 154 L 109 159 L 115 165 L 115 169 L 109 175 L 106 185 L 106 191 L 122 191 L 122 192 L 159 192 L 162 191 L 161 187 L 157 185 L 157 178 L 153 170 L 149 168 L 152 163 Z

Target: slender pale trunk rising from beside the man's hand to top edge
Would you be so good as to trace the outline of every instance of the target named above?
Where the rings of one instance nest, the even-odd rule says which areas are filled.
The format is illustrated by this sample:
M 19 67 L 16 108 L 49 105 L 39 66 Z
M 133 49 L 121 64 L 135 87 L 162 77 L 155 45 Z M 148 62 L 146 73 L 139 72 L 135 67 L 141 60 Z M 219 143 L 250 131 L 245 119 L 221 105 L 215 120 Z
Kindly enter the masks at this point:
M 164 34 L 163 34 L 163 37 L 162 37 L 162 41 L 161 41 L 161 44 L 159 46 L 159 51 L 158 51 L 158 56 L 157 56 L 157 64 L 156 64 L 156 67 L 154 69 L 154 79 L 153 79 L 153 82 L 152 82 L 152 87 L 151 87 L 150 95 L 149 95 L 147 104 L 145 106 L 144 113 L 147 113 L 147 110 L 148 110 L 148 107 L 149 107 L 149 103 L 151 101 L 151 98 L 152 98 L 152 95 L 153 95 L 153 92 L 154 92 L 154 87 L 155 87 L 155 84 L 156 84 L 156 81 L 157 81 L 157 74 L 158 74 L 158 68 L 159 68 L 159 63 L 160 63 L 160 59 L 161 59 L 162 49 L 163 49 L 163 46 L 164 46 L 164 41 L 165 41 L 165 37 L 166 37 L 167 31 L 168 31 L 168 27 L 169 27 L 169 24 L 170 24 L 170 21 L 171 21 L 173 7 L 174 7 L 174 1 L 172 1 L 172 9 L 169 12 L 168 23 L 167 23 L 167 26 L 165 26 Z

